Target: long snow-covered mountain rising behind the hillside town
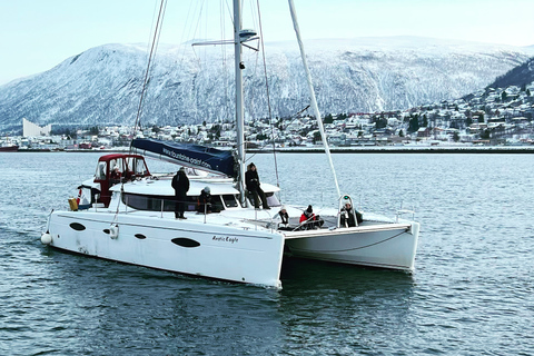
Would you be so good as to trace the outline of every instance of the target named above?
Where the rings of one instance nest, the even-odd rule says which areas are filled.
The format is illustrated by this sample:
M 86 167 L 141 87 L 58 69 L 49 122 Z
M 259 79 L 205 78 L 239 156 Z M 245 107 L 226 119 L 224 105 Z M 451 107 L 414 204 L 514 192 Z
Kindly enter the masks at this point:
M 493 82 L 526 61 L 532 48 L 425 38 L 306 41 L 308 63 L 324 113 L 407 109 L 454 99 Z M 144 98 L 142 125 L 233 119 L 230 47 L 160 46 Z M 289 117 L 309 102 L 298 48 L 266 43 L 273 116 Z M 226 59 L 221 60 L 220 55 Z M 146 46 L 106 44 L 57 67 L 0 87 L 0 130 L 39 125 L 127 125 L 138 111 Z M 267 117 L 263 59 L 247 51 L 246 115 Z

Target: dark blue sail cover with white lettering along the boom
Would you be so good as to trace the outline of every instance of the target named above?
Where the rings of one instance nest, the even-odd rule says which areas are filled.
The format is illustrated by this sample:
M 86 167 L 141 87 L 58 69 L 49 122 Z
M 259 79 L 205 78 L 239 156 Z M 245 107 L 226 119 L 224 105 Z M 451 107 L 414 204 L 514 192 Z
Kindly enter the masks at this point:
M 234 172 L 235 160 L 230 150 L 141 138 L 136 138 L 131 142 L 131 147 L 139 155 L 212 174 L 236 176 Z

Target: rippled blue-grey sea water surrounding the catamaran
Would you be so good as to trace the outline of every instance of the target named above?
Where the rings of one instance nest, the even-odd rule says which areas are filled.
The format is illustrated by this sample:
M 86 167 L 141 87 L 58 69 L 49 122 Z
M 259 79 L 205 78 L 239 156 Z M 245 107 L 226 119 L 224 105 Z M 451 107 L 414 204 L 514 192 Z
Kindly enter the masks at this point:
M 0 154 L 1 355 L 534 354 L 533 155 L 334 155 L 364 211 L 415 207 L 416 270 L 290 260 L 283 290 L 42 246 L 98 156 Z M 276 159 L 284 202 L 335 197 L 323 155 Z

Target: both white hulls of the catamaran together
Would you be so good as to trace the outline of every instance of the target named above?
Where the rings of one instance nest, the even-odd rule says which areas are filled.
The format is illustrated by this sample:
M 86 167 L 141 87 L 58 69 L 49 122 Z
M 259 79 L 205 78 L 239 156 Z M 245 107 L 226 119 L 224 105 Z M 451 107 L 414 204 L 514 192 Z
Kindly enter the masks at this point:
M 50 245 L 181 274 L 281 286 L 284 244 L 294 256 L 411 271 L 419 225 L 276 231 L 135 214 L 56 211 Z

